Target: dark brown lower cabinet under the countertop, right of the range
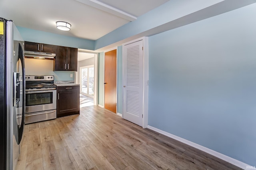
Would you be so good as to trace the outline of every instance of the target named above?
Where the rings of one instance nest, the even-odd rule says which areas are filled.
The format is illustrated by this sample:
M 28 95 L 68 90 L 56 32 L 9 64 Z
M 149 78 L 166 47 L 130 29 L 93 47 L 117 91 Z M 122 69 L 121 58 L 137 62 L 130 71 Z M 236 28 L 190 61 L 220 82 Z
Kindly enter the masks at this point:
M 80 86 L 57 87 L 57 118 L 80 114 Z

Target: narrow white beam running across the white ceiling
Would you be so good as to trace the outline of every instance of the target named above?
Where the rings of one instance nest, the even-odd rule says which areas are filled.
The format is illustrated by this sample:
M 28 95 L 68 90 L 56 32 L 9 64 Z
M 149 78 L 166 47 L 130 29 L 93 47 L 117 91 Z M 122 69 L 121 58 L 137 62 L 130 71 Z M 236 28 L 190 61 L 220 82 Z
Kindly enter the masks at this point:
M 94 8 L 99 9 L 99 10 L 108 12 L 108 13 L 113 14 L 115 16 L 118 16 L 120 18 L 124 18 L 124 19 L 129 20 L 129 21 L 134 21 L 134 20 L 137 19 L 136 16 L 128 14 L 128 13 L 126 13 L 122 10 L 119 10 L 117 8 L 114 8 L 113 6 L 104 4 L 104 3 L 102 3 L 98 0 L 76 0 L 76 1 L 81 2 L 82 4 L 86 4 L 88 6 L 92 6 Z

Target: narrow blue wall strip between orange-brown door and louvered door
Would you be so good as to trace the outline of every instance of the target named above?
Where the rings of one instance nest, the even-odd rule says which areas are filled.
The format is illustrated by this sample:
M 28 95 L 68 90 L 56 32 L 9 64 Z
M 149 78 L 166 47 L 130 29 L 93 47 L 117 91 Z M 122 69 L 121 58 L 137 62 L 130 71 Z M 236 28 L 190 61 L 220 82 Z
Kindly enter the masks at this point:
M 123 86 L 122 86 L 122 46 L 117 47 L 117 112 L 122 114 Z

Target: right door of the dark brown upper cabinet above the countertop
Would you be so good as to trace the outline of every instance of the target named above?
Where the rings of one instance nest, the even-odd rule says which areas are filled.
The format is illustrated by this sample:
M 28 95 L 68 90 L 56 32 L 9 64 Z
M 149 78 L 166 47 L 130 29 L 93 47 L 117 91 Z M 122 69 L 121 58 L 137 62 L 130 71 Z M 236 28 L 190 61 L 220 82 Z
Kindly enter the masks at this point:
M 68 71 L 77 71 L 77 48 L 68 48 Z

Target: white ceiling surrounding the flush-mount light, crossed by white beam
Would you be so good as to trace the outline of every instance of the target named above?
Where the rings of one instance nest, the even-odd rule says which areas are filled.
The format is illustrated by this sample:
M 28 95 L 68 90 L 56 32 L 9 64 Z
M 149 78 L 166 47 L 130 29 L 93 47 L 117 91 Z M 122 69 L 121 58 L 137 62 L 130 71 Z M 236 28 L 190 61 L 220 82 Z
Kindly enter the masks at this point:
M 97 40 L 167 1 L 0 0 L 0 17 L 16 26 Z M 71 30 L 58 30 L 56 21 L 70 23 Z

